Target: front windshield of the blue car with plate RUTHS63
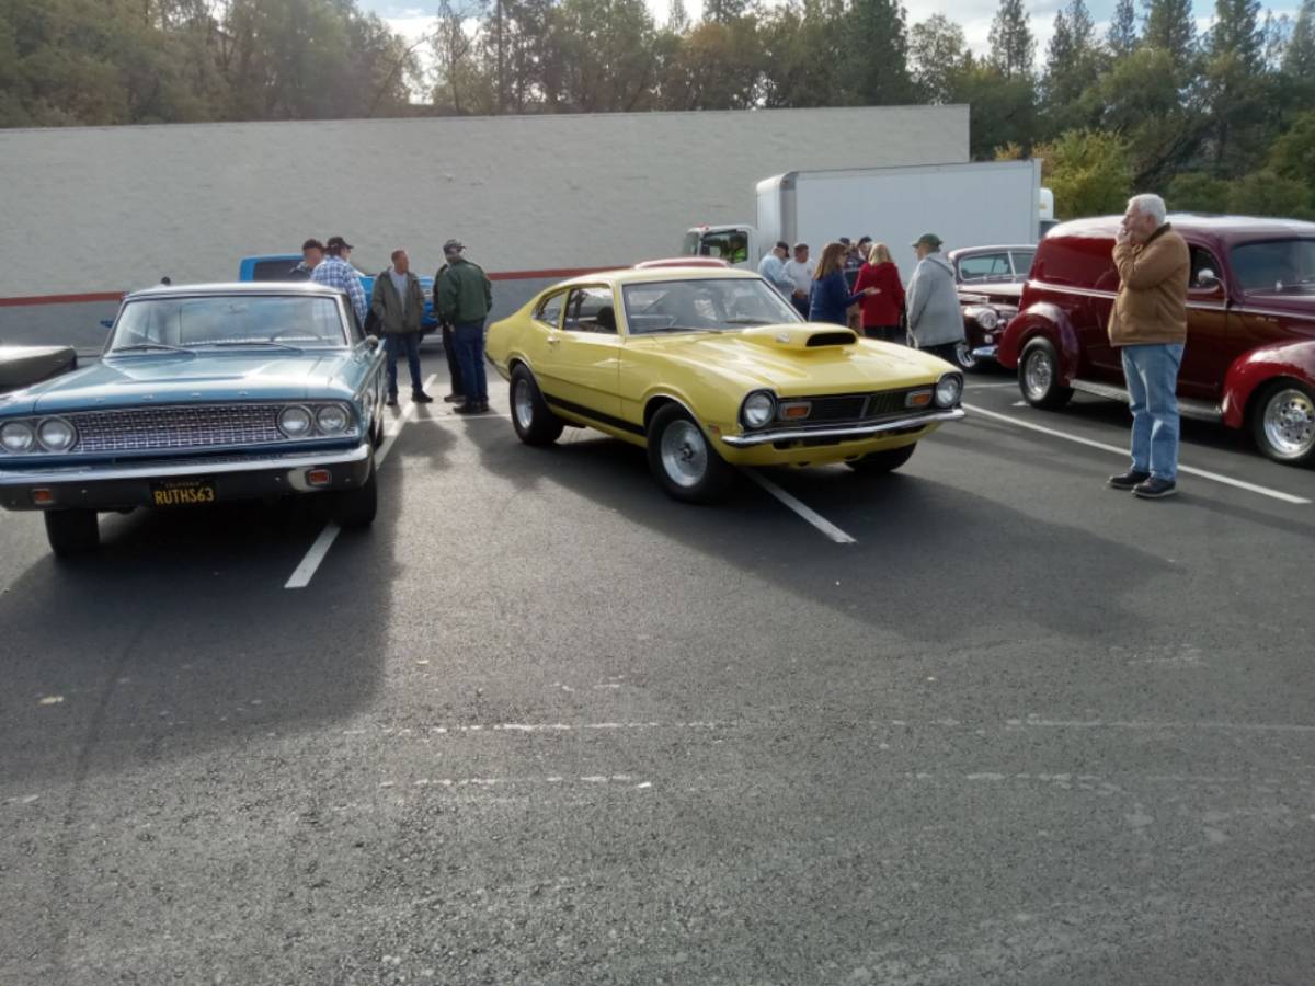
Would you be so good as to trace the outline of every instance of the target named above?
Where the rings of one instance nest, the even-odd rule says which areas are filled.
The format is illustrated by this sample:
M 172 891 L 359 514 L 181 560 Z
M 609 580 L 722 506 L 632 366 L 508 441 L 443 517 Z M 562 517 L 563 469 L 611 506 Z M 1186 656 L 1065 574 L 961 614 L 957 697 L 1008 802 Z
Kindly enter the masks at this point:
M 138 298 L 118 317 L 109 352 L 270 343 L 297 348 L 346 344 L 338 302 L 262 296 Z

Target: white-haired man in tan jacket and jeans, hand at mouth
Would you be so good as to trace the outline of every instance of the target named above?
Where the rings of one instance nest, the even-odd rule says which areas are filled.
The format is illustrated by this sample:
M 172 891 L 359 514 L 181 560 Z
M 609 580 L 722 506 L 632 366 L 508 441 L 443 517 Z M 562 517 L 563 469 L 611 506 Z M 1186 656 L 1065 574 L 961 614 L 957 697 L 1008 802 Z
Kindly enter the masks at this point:
M 1119 294 L 1110 313 L 1110 344 L 1122 350 L 1132 410 L 1132 468 L 1111 476 L 1115 489 L 1143 500 L 1177 492 L 1178 367 L 1187 342 L 1187 245 L 1165 221 L 1164 200 L 1128 201 L 1114 239 Z

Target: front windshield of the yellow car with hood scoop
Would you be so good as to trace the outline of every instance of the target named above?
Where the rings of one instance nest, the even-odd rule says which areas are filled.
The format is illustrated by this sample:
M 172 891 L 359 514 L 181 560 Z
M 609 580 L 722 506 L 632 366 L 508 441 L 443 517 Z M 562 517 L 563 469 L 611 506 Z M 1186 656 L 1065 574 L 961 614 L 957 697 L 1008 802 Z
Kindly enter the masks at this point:
M 801 322 L 800 313 L 759 277 L 627 284 L 621 289 L 633 335 L 715 333 L 752 325 Z

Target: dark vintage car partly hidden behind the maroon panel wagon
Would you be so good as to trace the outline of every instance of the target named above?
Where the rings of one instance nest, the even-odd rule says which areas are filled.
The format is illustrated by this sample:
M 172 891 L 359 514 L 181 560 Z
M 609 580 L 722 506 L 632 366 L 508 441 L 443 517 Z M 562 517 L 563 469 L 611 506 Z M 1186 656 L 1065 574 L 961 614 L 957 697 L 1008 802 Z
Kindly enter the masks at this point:
M 968 344 L 955 354 L 960 369 L 974 369 L 993 358 L 997 337 L 1018 314 L 1018 297 L 1035 255 L 1036 247 L 1027 245 L 960 247 L 945 254 L 955 266 L 968 337 Z

